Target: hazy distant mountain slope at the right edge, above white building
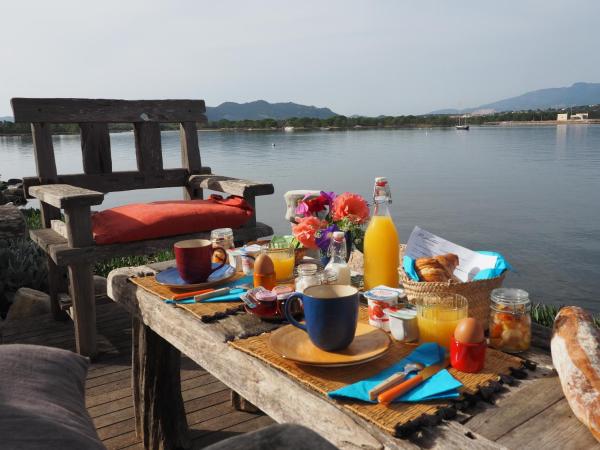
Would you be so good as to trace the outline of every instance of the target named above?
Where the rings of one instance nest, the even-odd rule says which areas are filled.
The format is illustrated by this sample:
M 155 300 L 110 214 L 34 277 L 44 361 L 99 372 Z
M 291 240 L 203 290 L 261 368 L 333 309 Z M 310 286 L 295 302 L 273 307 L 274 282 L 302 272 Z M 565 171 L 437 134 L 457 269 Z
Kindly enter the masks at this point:
M 487 114 L 495 111 L 566 108 L 600 103 L 600 83 L 574 83 L 572 86 L 539 89 L 474 108 L 440 109 L 431 114 Z

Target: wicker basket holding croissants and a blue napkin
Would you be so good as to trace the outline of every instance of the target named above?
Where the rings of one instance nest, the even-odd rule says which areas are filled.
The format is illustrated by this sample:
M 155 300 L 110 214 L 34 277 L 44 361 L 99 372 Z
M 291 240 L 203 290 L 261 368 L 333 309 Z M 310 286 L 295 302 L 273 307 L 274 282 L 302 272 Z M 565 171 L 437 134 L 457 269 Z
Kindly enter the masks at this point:
M 404 250 L 404 246 L 401 246 Z M 401 255 L 402 255 L 401 251 Z M 402 258 L 400 258 L 402 260 Z M 466 297 L 469 303 L 469 316 L 479 319 L 484 328 L 488 328 L 490 317 L 490 294 L 496 288 L 502 286 L 504 274 L 499 277 L 477 281 L 447 281 L 447 282 L 423 282 L 414 281 L 408 277 L 404 269 L 400 269 L 400 281 L 410 303 L 428 295 L 460 294 Z

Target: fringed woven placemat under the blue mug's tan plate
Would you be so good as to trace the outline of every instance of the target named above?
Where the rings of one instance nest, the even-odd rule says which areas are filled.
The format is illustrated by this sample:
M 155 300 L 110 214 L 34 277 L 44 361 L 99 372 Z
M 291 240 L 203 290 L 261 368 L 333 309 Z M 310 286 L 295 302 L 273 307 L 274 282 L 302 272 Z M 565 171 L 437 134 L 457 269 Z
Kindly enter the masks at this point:
M 368 322 L 367 308 L 361 306 L 359 320 Z M 416 347 L 416 345 L 393 341 L 390 350 L 375 361 L 359 366 L 325 368 L 299 365 L 280 357 L 271 350 L 269 338 L 270 333 L 264 333 L 259 336 L 232 341 L 230 345 L 263 360 L 324 396 L 327 396 L 330 391 L 377 374 L 403 359 Z M 488 349 L 485 367 L 480 373 L 463 373 L 453 368 L 449 368 L 449 371 L 464 385 L 461 392 L 474 394 L 482 387 L 497 382 L 500 375 L 509 375 L 511 368 L 518 369 L 521 367 L 522 360 L 520 358 Z M 396 434 L 397 428 L 404 424 L 423 415 L 433 415 L 440 409 L 452 405 L 452 402 L 447 400 L 427 403 L 393 403 L 389 406 L 351 400 L 335 401 L 391 434 Z

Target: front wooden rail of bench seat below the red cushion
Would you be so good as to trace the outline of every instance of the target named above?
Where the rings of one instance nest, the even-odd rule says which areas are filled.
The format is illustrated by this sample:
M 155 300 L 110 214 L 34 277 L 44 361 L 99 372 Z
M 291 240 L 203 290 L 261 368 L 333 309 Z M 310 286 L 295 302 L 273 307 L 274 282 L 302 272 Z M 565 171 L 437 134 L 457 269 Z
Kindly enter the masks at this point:
M 259 237 L 270 236 L 273 229 L 258 222 L 256 228 L 239 228 L 233 230 L 236 241 L 249 241 Z M 186 239 L 210 239 L 210 231 L 183 234 L 160 239 L 136 241 L 127 244 L 94 245 L 89 247 L 69 247 L 67 240 L 50 228 L 31 230 L 29 235 L 52 260 L 59 266 L 73 263 L 95 262 L 119 256 L 144 255 L 170 249 L 177 241 Z

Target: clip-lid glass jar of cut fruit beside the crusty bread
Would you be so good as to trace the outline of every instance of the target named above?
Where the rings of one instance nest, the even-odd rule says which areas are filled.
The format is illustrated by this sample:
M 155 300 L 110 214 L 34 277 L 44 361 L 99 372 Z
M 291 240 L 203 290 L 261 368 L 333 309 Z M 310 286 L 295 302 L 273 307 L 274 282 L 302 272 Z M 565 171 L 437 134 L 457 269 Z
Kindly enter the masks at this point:
M 519 353 L 531 344 L 531 301 L 523 289 L 499 288 L 491 294 L 490 346 Z

